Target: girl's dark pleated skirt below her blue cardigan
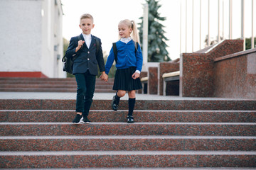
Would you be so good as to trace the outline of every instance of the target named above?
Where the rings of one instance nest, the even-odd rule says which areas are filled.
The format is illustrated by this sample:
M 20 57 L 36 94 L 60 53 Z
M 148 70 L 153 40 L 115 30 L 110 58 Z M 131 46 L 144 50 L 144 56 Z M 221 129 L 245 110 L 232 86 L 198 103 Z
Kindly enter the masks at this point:
M 132 91 L 142 89 L 142 82 L 139 78 L 132 79 L 132 74 L 136 71 L 136 67 L 128 69 L 117 69 L 114 76 L 113 90 Z

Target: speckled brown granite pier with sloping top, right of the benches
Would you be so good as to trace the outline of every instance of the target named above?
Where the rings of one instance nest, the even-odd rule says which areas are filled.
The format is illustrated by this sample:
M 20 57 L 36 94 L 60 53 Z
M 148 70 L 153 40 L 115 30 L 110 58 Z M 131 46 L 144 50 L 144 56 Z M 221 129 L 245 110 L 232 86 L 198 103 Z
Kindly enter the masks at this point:
M 214 59 L 243 50 L 242 40 L 224 40 L 193 53 L 183 53 L 180 61 L 180 96 L 214 96 Z

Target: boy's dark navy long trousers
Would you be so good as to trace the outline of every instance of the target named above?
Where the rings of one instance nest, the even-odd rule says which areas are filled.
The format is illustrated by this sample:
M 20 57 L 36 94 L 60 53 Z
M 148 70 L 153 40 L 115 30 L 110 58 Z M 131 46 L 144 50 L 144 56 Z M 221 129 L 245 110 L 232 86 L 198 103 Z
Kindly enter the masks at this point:
M 85 73 L 75 74 L 75 79 L 78 84 L 76 112 L 82 113 L 87 116 L 92 104 L 92 97 L 95 91 L 96 76 L 90 74 L 89 70 Z

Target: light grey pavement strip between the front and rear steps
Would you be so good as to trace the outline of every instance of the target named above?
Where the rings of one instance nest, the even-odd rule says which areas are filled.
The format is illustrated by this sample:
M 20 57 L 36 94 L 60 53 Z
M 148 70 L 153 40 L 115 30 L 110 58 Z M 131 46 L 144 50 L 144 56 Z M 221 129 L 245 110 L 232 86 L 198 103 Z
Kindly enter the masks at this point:
M 94 100 L 112 100 L 113 93 L 95 93 Z M 76 93 L 67 92 L 0 92 L 0 99 L 76 99 Z M 137 100 L 247 100 L 241 98 L 191 98 L 180 96 L 159 96 L 153 94 L 136 94 Z M 121 100 L 128 100 L 128 94 L 125 94 Z M 252 99 L 250 99 L 252 100 Z

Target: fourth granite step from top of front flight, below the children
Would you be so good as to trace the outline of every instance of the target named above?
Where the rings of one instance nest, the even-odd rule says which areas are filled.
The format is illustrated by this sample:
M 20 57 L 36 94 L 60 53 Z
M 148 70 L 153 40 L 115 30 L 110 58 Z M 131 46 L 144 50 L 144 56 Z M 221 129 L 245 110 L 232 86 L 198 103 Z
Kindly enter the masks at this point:
M 2 136 L 0 151 L 256 151 L 256 137 Z

